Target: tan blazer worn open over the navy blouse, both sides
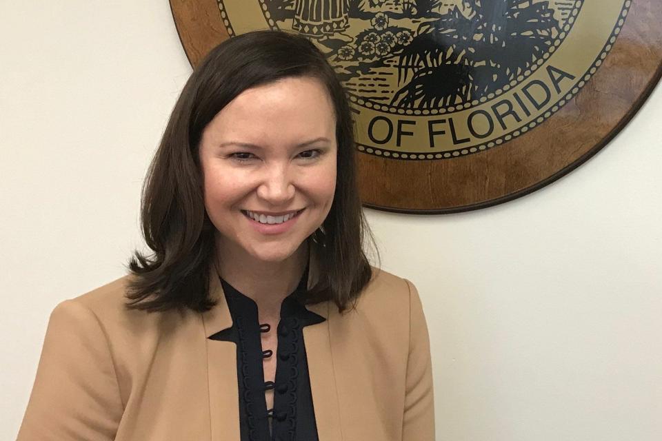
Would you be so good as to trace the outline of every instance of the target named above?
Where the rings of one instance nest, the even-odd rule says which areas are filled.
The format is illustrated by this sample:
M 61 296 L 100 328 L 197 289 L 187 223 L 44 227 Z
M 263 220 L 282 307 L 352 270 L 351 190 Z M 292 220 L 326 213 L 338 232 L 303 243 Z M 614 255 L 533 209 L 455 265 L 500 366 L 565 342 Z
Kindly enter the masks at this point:
M 309 275 L 310 285 L 314 274 Z M 428 330 L 408 281 L 375 270 L 357 309 L 308 306 L 320 441 L 432 441 Z M 124 307 L 129 276 L 53 311 L 19 441 L 239 441 L 237 352 L 217 278 L 205 313 Z

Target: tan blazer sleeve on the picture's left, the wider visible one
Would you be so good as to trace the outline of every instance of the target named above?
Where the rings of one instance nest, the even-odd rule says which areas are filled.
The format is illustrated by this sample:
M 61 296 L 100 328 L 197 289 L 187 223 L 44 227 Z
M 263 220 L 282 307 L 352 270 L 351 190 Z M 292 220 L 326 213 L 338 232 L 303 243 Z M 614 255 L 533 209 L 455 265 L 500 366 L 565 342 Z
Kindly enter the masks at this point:
M 123 404 L 108 338 L 77 300 L 52 312 L 17 441 L 113 440 Z

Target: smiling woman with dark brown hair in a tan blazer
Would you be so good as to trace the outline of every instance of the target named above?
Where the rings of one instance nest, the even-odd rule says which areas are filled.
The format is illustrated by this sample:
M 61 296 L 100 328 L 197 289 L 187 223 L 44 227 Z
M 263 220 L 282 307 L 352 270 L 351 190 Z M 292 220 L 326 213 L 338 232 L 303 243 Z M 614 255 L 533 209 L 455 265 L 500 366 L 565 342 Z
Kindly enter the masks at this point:
M 303 37 L 225 41 L 143 194 L 150 256 L 53 311 L 18 439 L 434 439 L 425 318 L 363 254 L 348 102 Z

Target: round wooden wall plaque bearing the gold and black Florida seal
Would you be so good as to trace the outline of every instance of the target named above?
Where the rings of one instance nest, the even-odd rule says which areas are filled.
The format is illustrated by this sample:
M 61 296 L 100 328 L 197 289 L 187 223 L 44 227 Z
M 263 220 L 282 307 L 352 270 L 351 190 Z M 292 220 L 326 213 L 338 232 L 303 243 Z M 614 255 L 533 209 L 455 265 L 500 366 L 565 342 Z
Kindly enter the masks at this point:
M 662 74 L 659 0 L 170 0 L 192 65 L 224 39 L 294 30 L 357 121 L 367 207 L 434 214 L 574 170 Z

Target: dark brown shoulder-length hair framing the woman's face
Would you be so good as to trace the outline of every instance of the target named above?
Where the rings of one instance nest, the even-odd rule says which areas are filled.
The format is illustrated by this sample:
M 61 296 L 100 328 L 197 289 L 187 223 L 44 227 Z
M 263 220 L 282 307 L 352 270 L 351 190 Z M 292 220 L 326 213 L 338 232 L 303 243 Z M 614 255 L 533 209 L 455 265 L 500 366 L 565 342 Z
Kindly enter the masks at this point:
M 172 110 L 143 185 L 141 224 L 151 253 L 129 260 L 127 306 L 131 309 L 206 311 L 216 254 L 203 200 L 198 147 L 205 127 L 241 92 L 292 76 L 325 85 L 336 116 L 337 184 L 315 247 L 319 278 L 305 302 L 332 300 L 343 311 L 354 305 L 372 270 L 363 241 L 374 245 L 357 191 L 354 126 L 345 91 L 324 55 L 308 39 L 258 31 L 228 39 L 194 70 Z M 222 258 L 222 256 L 221 256 Z

